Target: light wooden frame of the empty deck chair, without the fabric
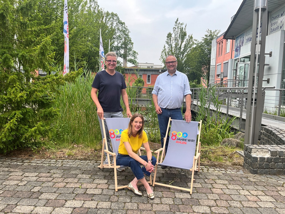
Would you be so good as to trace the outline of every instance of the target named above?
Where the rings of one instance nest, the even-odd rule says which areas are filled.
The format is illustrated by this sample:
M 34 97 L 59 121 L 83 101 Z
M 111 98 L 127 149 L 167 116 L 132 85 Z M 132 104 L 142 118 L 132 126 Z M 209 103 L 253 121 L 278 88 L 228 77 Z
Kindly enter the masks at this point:
M 192 188 L 193 188 L 193 181 L 194 179 L 194 171 L 200 171 L 200 154 L 201 154 L 201 142 L 200 142 L 200 135 L 201 135 L 201 124 L 202 124 L 202 120 L 200 122 L 198 122 L 198 130 L 199 130 L 199 134 L 198 134 L 198 143 L 196 143 L 196 155 L 194 155 L 193 157 L 193 166 L 190 169 L 190 173 L 192 174 L 191 176 L 191 186 L 190 189 L 189 188 L 184 188 L 184 187 L 177 187 L 177 186 L 173 186 L 173 185 L 168 185 L 168 184 L 164 184 L 164 183 L 158 183 L 155 181 L 156 179 L 156 171 L 158 169 L 158 165 L 159 163 L 163 163 L 163 160 L 165 158 L 165 144 L 166 144 L 166 139 L 168 136 L 168 130 L 169 130 L 169 126 L 170 126 L 170 121 L 172 121 L 171 118 L 169 118 L 168 121 L 168 126 L 167 126 L 167 130 L 166 130 L 166 137 L 164 138 L 164 145 L 163 148 L 160 148 L 158 150 L 156 150 L 154 153 L 157 154 L 157 158 L 156 158 L 156 166 L 155 166 L 155 170 L 154 170 L 154 178 L 153 178 L 153 183 L 152 186 L 154 185 L 160 185 L 160 186 L 165 186 L 165 187 L 171 187 L 171 188 L 175 188 L 175 189 L 181 189 L 181 190 L 185 190 L 185 191 L 190 191 L 190 194 L 192 194 Z M 160 152 L 162 151 L 162 154 L 160 156 Z M 179 155 L 179 154 L 177 154 Z M 160 158 L 160 160 L 159 160 Z M 198 164 L 198 167 L 197 167 Z M 177 167 L 179 168 L 179 167 Z

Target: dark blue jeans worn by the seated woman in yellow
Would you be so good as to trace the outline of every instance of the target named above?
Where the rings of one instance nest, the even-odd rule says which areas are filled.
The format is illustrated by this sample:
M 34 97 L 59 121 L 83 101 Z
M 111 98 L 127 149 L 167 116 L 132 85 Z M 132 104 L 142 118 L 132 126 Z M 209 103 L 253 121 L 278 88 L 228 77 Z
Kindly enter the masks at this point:
M 146 155 L 142 155 L 139 157 L 147 161 Z M 156 158 L 154 156 L 151 157 L 151 163 L 152 165 L 156 164 Z M 121 166 L 122 165 L 129 166 L 138 180 L 142 179 L 144 177 L 144 174 L 150 176 L 150 172 L 146 171 L 144 166 L 141 167 L 139 161 L 136 161 L 135 159 L 131 158 L 129 155 L 118 154 L 116 158 L 116 164 Z

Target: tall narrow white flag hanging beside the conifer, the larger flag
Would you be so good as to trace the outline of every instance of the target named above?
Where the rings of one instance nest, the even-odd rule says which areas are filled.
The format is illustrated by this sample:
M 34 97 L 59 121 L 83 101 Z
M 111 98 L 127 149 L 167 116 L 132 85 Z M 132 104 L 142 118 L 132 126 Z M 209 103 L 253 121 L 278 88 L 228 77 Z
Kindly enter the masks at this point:
M 64 34 L 64 66 L 63 66 L 63 76 L 64 76 L 69 72 L 69 33 L 68 33 L 67 0 L 64 0 L 63 34 Z

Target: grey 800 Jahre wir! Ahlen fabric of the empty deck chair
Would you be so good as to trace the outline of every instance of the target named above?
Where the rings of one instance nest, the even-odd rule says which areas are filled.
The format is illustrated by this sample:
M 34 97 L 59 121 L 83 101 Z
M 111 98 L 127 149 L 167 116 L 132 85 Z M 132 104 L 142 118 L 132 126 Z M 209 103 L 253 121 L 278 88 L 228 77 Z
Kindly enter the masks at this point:
M 198 122 L 172 120 L 167 153 L 163 163 L 180 169 L 191 169 L 196 155 Z

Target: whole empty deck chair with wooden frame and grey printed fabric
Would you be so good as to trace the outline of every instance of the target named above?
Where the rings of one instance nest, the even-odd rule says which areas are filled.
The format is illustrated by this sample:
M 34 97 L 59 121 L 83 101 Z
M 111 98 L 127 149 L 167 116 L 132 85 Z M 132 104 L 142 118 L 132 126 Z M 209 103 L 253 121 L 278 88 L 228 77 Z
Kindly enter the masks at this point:
M 190 194 L 192 194 L 194 171 L 200 171 L 200 153 L 201 153 L 200 134 L 201 134 L 202 121 L 200 122 L 192 121 L 188 123 L 185 120 L 172 120 L 171 118 L 169 118 L 166 136 L 168 135 L 170 121 L 172 121 L 170 138 L 165 158 L 164 158 L 165 154 L 164 151 L 165 151 L 166 137 L 164 138 L 163 148 L 156 150 L 154 152 L 155 154 L 157 154 L 157 159 L 156 159 L 157 162 L 154 171 L 154 178 L 152 185 L 154 186 L 156 184 L 176 189 L 182 189 L 190 191 Z M 198 129 L 198 124 L 200 124 L 199 129 Z M 198 135 L 198 145 L 196 145 L 197 135 Z M 160 151 L 162 151 L 161 156 L 160 156 Z M 198 168 L 197 168 L 197 162 L 198 162 Z M 169 166 L 179 169 L 186 169 L 192 172 L 190 189 L 156 182 L 155 179 L 156 179 L 156 171 L 158 169 L 158 165 Z

